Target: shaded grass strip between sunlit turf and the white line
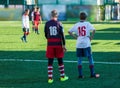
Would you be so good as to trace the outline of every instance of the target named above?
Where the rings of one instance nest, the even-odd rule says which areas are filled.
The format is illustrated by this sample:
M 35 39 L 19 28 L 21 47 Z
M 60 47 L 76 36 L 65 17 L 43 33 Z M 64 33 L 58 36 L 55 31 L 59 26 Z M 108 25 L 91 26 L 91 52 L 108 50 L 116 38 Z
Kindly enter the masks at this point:
M 95 43 L 96 44 L 96 43 Z M 0 59 L 47 60 L 46 51 L 0 51 Z M 120 61 L 120 52 L 93 52 L 96 61 Z M 76 52 L 67 51 L 65 60 L 76 60 Z

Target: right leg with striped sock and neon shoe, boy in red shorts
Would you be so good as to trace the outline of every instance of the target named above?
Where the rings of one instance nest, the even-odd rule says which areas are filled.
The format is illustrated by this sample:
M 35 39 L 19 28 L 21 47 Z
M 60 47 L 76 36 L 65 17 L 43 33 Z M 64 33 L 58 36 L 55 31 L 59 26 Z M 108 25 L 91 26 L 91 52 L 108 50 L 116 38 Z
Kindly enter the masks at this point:
M 63 64 L 63 59 L 58 58 L 58 65 L 59 65 L 59 71 L 60 71 L 60 80 L 61 81 L 66 81 L 68 80 L 68 77 L 65 76 L 65 71 L 64 71 L 64 64 Z

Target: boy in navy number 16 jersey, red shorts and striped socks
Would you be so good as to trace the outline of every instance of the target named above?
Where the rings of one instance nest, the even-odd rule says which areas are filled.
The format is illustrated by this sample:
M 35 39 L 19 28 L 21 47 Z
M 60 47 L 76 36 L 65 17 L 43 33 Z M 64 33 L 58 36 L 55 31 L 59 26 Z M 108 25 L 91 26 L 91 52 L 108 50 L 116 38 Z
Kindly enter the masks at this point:
M 59 21 L 57 21 L 57 11 L 51 12 L 51 20 L 45 24 L 45 37 L 47 39 L 46 57 L 48 58 L 48 83 L 53 83 L 53 61 L 57 58 L 60 81 L 68 80 L 68 77 L 64 72 L 63 56 L 65 48 L 65 38 L 63 33 L 63 27 Z

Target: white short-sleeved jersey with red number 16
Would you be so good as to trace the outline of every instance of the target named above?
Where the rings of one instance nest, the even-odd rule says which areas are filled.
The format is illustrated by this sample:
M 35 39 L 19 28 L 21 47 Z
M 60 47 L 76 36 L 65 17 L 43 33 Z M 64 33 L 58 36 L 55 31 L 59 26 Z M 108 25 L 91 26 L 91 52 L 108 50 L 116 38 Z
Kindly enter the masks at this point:
M 69 32 L 74 32 L 77 37 L 76 48 L 87 48 L 91 46 L 90 31 L 95 30 L 91 23 L 83 21 L 76 23 Z

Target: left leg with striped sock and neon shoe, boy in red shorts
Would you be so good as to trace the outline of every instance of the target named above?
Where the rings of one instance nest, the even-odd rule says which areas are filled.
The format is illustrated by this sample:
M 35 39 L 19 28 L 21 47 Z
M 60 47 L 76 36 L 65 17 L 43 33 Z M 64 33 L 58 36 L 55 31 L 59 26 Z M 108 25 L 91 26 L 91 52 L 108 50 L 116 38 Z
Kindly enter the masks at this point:
M 53 58 L 48 58 L 48 83 L 53 82 Z

